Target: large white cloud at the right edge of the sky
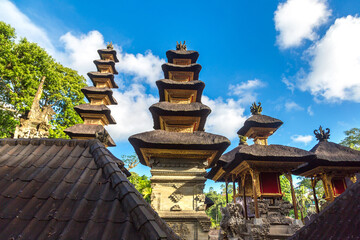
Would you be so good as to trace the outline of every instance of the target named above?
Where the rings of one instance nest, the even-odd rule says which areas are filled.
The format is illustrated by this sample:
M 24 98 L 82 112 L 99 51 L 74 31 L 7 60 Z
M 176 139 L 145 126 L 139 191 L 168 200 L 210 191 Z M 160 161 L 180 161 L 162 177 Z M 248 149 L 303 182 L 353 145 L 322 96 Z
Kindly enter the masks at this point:
M 299 87 L 325 101 L 360 102 L 360 18 L 339 18 L 308 53 L 310 73 Z

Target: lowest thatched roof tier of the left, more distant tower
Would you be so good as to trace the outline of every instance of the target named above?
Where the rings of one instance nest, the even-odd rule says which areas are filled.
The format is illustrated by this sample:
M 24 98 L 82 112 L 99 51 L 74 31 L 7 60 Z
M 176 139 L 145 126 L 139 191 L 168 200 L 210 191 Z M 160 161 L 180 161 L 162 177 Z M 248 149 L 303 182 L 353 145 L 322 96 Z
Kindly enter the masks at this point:
M 76 124 L 68 127 L 64 132 L 69 135 L 70 138 L 96 138 L 96 133 L 105 133 L 107 135 L 107 145 L 109 147 L 115 147 L 114 140 L 108 135 L 108 132 L 102 125 L 91 124 Z

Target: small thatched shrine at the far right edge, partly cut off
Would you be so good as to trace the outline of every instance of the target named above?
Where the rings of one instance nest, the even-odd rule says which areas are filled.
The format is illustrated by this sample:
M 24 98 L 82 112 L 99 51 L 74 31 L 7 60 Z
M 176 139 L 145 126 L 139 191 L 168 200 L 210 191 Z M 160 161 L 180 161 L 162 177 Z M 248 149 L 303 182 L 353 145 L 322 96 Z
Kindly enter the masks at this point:
M 296 175 L 311 178 L 315 207 L 319 212 L 317 197 L 315 194 L 316 183 L 321 180 L 325 190 L 325 199 L 329 202 L 342 194 L 346 188 L 345 177 L 356 182 L 356 173 L 360 172 L 360 151 L 329 142 L 330 129 L 314 130 L 319 141 L 310 152 L 316 155 L 316 159 L 299 166 L 293 171 Z

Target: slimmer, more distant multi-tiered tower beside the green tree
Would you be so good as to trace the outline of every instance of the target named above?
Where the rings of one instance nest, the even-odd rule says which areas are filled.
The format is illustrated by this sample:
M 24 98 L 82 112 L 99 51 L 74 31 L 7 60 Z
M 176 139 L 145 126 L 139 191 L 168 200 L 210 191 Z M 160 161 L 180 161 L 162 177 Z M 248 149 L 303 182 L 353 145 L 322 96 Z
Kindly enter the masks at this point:
M 81 91 L 89 103 L 74 107 L 75 111 L 84 120 L 82 124 L 76 124 L 64 130 L 73 139 L 97 138 L 105 146 L 115 146 L 114 140 L 110 137 L 104 126 L 116 124 L 111 116 L 111 111 L 106 105 L 116 105 L 117 102 L 112 96 L 111 88 L 118 88 L 114 81 L 114 74 L 118 74 L 115 63 L 119 62 L 112 43 L 106 49 L 99 49 L 99 60 L 94 60 L 97 72 L 89 72 L 88 76 L 93 82 L 92 87 L 84 87 Z

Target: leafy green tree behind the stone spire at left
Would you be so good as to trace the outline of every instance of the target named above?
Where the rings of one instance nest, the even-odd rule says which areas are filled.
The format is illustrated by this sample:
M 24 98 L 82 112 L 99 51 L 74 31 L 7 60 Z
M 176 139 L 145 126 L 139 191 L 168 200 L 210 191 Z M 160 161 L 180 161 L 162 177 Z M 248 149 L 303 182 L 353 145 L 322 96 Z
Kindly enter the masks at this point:
M 67 138 L 63 130 L 82 122 L 74 106 L 84 103 L 85 78 L 56 62 L 36 43 L 15 41 L 15 29 L 0 22 L 0 137 L 11 137 L 19 116 L 30 110 L 42 77 L 46 77 L 40 107 L 56 112 L 51 138 Z

